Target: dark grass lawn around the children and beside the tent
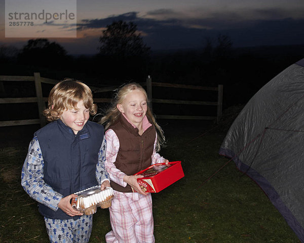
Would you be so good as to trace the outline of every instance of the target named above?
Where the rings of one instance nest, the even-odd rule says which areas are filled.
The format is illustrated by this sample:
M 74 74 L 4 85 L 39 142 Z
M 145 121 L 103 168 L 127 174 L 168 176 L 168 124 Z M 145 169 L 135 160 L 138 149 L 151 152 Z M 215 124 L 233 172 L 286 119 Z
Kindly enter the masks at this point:
M 225 135 L 203 122 L 163 122 L 161 155 L 181 160 L 185 177 L 153 194 L 156 242 L 299 242 L 262 190 L 218 155 Z M 206 128 L 209 127 L 209 128 Z M 201 135 L 204 134 L 204 135 Z M 28 138 L 29 142 L 30 138 Z M 27 146 L 0 149 L 0 242 L 49 242 L 36 203 L 20 185 Z M 94 215 L 90 242 L 105 242 L 108 210 Z

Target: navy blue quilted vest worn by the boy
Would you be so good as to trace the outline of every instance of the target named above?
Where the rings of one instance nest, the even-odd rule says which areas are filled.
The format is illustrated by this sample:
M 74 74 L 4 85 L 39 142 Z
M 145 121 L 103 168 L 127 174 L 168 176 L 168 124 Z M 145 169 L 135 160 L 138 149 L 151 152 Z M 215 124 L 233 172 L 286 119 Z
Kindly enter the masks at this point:
M 98 184 L 95 178 L 103 126 L 88 121 L 77 134 L 60 119 L 35 132 L 44 159 L 44 181 L 63 197 Z M 77 219 L 61 209 L 39 203 L 39 212 L 51 219 Z

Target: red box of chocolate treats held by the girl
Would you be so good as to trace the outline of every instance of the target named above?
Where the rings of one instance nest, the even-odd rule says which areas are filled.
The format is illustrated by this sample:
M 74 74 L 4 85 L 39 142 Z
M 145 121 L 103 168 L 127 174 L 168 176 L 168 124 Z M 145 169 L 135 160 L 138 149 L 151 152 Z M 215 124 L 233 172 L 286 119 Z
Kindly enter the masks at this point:
M 153 164 L 137 172 L 134 176 L 144 176 L 137 179 L 141 189 L 145 192 L 160 192 L 184 177 L 181 161 L 169 162 L 169 164 L 169 167 L 165 163 Z M 136 192 L 133 188 L 132 191 Z

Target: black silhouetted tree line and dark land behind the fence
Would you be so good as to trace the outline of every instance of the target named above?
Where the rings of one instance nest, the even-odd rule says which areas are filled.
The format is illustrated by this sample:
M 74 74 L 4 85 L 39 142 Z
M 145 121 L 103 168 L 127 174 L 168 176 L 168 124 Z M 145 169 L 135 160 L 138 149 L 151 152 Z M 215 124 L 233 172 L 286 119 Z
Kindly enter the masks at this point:
M 290 47 L 234 48 L 230 37 L 222 34 L 216 40 L 206 39 L 199 50 L 155 52 L 144 44 L 136 24 L 121 20 L 102 31 L 96 55 L 74 57 L 56 42 L 32 39 L 21 50 L 0 46 L 0 68 L 2 75 L 41 72 L 48 78 L 89 79 L 92 84 L 143 82 L 147 75 L 155 82 L 223 84 L 224 105 L 229 106 L 246 102 L 262 85 L 301 59 L 301 53 L 291 53 Z

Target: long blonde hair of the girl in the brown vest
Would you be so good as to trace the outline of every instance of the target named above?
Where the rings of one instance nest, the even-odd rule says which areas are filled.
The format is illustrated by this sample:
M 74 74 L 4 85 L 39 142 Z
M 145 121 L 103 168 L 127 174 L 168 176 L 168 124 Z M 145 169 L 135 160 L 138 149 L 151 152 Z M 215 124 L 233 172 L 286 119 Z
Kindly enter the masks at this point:
M 112 99 L 110 108 L 106 111 L 105 115 L 101 118 L 100 124 L 105 125 L 105 129 L 107 130 L 109 126 L 111 126 L 115 121 L 118 119 L 121 112 L 118 110 L 117 105 L 121 104 L 123 100 L 125 99 L 126 95 L 133 90 L 140 90 L 144 93 L 146 96 L 146 100 L 148 101 L 148 96 L 144 88 L 142 88 L 137 83 L 128 83 L 123 85 L 121 88 L 117 90 L 117 92 L 114 95 L 114 98 Z M 149 107 L 147 107 L 147 113 L 146 116 L 150 123 L 154 124 L 156 131 L 157 131 L 157 145 L 156 145 L 156 151 L 160 151 L 161 146 L 165 144 L 165 136 L 162 128 L 159 124 L 157 124 L 154 115 L 152 114 Z

